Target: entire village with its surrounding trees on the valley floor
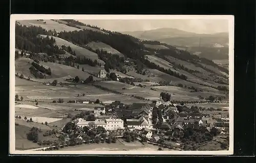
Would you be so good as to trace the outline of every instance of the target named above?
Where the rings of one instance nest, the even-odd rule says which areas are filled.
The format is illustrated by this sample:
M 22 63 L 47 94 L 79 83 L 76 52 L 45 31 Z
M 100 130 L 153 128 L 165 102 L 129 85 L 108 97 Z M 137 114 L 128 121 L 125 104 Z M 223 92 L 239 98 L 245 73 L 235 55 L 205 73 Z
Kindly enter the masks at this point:
M 89 101 L 76 100 L 75 103 Z M 114 101 L 95 107 L 94 111 L 68 115 L 71 121 L 55 131 L 58 141 L 37 144 L 44 147 L 39 150 L 56 150 L 81 144 L 110 144 L 122 139 L 126 143 L 153 144 L 158 150 L 198 150 L 200 145 L 214 140 L 220 143 L 221 149 L 228 148 L 228 111 L 192 106 L 188 112 L 184 108 L 188 107 L 163 100 L 130 106 Z

